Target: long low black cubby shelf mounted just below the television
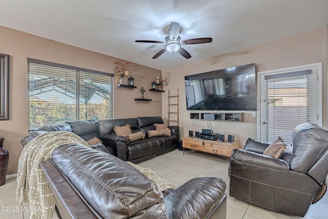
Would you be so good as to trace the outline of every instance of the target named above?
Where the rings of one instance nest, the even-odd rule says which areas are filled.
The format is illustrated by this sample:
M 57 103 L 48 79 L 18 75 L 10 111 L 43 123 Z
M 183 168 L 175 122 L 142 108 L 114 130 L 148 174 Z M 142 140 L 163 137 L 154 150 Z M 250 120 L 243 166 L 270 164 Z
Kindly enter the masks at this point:
M 190 113 L 193 120 L 243 122 L 244 113 Z

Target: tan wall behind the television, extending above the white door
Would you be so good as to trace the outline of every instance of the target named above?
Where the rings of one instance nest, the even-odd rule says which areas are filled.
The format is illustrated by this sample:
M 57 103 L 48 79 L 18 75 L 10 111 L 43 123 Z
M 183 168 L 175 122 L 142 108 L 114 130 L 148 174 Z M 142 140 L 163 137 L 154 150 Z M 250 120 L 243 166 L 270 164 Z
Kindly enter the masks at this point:
M 214 132 L 235 135 L 235 140 L 240 140 L 244 145 L 248 137 L 257 137 L 256 118 L 251 117 L 250 111 L 244 111 L 244 122 L 211 122 L 190 119 L 190 112 L 186 109 L 186 94 L 184 76 L 201 72 L 213 71 L 232 66 L 256 63 L 256 72 L 299 66 L 310 63 L 322 62 L 323 84 L 323 127 L 327 127 L 327 28 L 282 38 L 277 41 L 257 45 L 244 50 L 232 52 L 208 59 L 203 62 L 166 69 L 162 72 L 171 72 L 171 83 L 166 89 L 176 92 L 179 88 L 179 121 L 181 137 L 188 136 L 189 130 L 201 131 L 202 128 L 213 129 Z M 213 40 L 213 43 L 215 39 Z M 185 48 L 188 50 L 187 46 Z M 192 61 L 192 58 L 190 59 Z M 168 98 L 163 94 L 162 116 L 168 114 Z M 199 112 L 199 111 L 196 111 Z M 209 111 L 210 112 L 210 111 Z M 213 112 L 213 111 L 212 111 Z

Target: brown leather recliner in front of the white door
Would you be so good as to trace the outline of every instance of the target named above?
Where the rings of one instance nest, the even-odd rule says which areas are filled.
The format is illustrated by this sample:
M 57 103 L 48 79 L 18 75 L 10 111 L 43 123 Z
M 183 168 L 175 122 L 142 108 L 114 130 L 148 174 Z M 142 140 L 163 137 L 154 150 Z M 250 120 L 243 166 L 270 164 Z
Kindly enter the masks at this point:
M 292 145 L 277 159 L 263 155 L 268 143 L 249 140 L 230 158 L 230 196 L 271 211 L 304 216 L 326 191 L 328 131 L 298 125 Z

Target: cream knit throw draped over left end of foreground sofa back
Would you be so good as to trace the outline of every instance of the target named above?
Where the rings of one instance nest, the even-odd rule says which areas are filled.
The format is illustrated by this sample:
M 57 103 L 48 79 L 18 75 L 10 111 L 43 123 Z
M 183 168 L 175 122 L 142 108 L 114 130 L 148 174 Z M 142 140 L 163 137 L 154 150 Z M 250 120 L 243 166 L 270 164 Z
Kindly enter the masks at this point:
M 40 134 L 30 141 L 20 154 L 17 172 L 16 201 L 30 205 L 30 218 L 48 219 L 53 216 L 55 198 L 40 167 L 50 160 L 52 152 L 61 145 L 86 141 L 68 131 L 53 131 Z

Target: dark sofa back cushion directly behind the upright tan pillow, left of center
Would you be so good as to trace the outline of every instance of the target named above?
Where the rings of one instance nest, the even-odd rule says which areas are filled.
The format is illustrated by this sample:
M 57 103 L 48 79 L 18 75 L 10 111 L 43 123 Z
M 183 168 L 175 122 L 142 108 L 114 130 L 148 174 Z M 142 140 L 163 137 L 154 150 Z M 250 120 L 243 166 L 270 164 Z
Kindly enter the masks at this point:
M 98 134 L 100 138 L 103 138 L 105 135 L 114 133 L 115 126 L 125 126 L 129 124 L 131 126 L 132 132 L 135 129 L 138 129 L 137 119 L 136 118 L 118 118 L 116 120 L 101 120 L 97 122 Z

